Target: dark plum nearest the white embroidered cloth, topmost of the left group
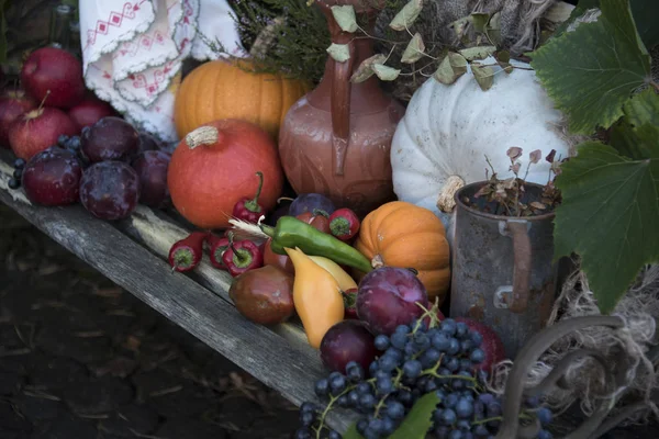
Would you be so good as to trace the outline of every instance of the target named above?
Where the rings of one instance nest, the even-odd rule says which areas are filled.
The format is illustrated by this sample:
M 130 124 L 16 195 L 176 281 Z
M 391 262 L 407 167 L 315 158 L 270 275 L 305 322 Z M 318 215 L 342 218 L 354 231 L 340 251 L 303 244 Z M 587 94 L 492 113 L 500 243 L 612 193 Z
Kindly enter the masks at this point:
M 82 155 L 92 164 L 104 160 L 125 160 L 137 153 L 139 134 L 121 117 L 101 119 L 80 136 Z

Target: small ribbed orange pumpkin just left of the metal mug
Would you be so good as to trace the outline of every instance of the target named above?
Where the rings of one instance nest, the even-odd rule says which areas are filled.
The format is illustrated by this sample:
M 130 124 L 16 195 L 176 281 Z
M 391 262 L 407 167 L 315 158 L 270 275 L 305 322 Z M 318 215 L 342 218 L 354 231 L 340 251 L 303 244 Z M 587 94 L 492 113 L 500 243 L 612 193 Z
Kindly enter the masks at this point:
M 449 248 L 442 221 L 427 209 L 392 201 L 370 212 L 355 247 L 384 266 L 413 268 L 432 302 L 444 302 L 450 282 Z

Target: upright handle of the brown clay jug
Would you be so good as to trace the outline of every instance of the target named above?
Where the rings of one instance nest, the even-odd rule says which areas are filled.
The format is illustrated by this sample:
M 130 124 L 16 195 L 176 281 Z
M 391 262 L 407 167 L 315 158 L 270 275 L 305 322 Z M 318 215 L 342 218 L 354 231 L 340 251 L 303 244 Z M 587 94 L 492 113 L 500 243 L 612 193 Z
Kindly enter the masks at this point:
M 349 41 L 348 53 L 350 57 L 343 61 L 334 61 L 334 77 L 332 79 L 332 170 L 335 176 L 344 175 L 344 164 L 350 137 L 350 91 L 353 85 L 350 76 L 355 58 L 355 43 Z

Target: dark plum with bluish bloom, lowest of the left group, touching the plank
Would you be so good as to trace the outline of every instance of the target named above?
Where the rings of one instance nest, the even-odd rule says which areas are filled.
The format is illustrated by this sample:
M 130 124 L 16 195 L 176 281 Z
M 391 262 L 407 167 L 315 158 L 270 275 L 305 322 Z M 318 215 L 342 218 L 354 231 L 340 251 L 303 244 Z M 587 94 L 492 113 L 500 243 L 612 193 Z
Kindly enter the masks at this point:
M 85 170 L 80 181 L 80 201 L 93 216 L 121 219 L 137 206 L 139 178 L 122 161 L 101 161 Z

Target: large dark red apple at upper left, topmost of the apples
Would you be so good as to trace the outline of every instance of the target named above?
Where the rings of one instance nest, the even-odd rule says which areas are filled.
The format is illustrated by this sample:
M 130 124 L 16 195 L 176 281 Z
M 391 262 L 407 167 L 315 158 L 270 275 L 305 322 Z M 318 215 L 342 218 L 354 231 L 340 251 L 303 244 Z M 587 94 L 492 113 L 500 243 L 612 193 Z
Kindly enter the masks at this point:
M 35 100 L 45 99 L 48 106 L 70 109 L 85 95 L 82 65 L 72 54 L 57 47 L 31 53 L 21 69 L 21 83 Z

